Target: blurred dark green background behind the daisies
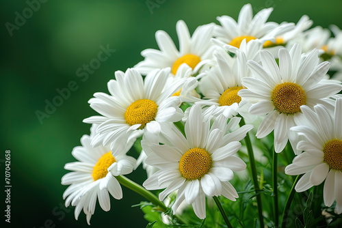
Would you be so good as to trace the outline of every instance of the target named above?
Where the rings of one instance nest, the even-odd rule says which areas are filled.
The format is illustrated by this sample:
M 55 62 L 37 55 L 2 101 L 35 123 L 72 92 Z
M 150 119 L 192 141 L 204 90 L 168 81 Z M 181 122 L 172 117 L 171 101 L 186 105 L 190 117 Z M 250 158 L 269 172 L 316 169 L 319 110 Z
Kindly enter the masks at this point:
M 147 3 L 155 5 L 149 8 Z M 216 16 L 237 19 L 246 3 L 228 0 L 1 1 L 0 165 L 1 173 L 5 173 L 5 150 L 10 149 L 9 227 L 88 227 L 83 212 L 76 221 L 74 208 L 64 208 L 62 193 L 66 186 L 60 180 L 67 173 L 63 169 L 65 163 L 75 161 L 70 153 L 73 147 L 80 145 L 83 134 L 89 134 L 90 125 L 83 124 L 82 120 L 96 114 L 88 105 L 92 94 L 107 93 L 107 81 L 113 79 L 116 70 L 124 71 L 141 61 L 140 52 L 145 48 L 157 48 L 155 31 L 167 31 L 177 43 L 177 20 L 185 20 L 192 33 L 198 25 L 218 23 Z M 262 8 L 273 7 L 269 21 L 296 23 L 307 14 L 314 26 L 335 24 L 342 28 L 341 0 L 251 3 L 254 14 Z M 34 10 L 27 10 L 30 4 Z M 25 21 L 17 18 L 18 14 L 24 14 Z M 20 26 L 16 27 L 16 23 Z M 101 66 L 86 73 L 86 77 L 86 70 L 79 68 L 90 63 L 95 66 L 94 59 L 101 46 L 109 46 L 115 52 L 100 62 Z M 83 76 L 77 76 L 77 70 Z M 37 111 L 44 112 L 47 102 L 59 96 L 57 90 L 68 87 L 70 81 L 75 82 L 74 91 L 62 101 L 55 100 L 59 106 L 51 110 L 49 117 L 39 120 Z M 129 176 L 140 184 L 145 177 L 143 172 Z M 5 186 L 4 174 L 1 174 L 1 183 Z M 131 208 L 142 197 L 127 188 L 123 188 L 123 193 L 122 200 L 111 201 L 109 212 L 96 207 L 92 227 L 146 227 L 140 209 Z M 5 196 L 1 202 L 4 199 Z M 5 204 L 1 203 L 3 210 Z M 3 220 L 1 215 L 1 223 Z

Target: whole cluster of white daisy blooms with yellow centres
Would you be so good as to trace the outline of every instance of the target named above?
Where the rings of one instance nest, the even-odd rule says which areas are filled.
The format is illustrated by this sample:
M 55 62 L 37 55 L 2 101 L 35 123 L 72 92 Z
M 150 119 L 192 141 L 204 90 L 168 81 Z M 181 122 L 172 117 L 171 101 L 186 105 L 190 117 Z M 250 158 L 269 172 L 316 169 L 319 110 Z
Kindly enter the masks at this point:
M 62 177 L 76 219 L 83 210 L 90 223 L 97 199 L 108 211 L 110 196 L 122 198 L 118 177 L 139 165 L 148 176 L 142 185 L 162 190 L 160 201 L 176 193 L 173 213 L 185 203 L 205 218 L 206 198 L 239 197 L 230 181 L 246 169 L 237 152 L 249 131 L 257 139 L 273 134 L 276 153 L 289 141 L 295 158 L 285 173 L 304 174 L 295 190 L 324 182 L 324 204 L 336 201 L 342 213 L 342 31 L 310 29 L 308 16 L 267 22 L 271 12 L 253 16 L 244 5 L 237 21 L 220 16 L 192 35 L 179 20 L 179 48 L 157 31 L 159 50 L 142 51 L 143 61 L 115 72 L 109 94 L 94 94 L 89 103 L 99 115 L 83 120 L 90 135 Z M 140 156 L 127 156 L 136 141 Z

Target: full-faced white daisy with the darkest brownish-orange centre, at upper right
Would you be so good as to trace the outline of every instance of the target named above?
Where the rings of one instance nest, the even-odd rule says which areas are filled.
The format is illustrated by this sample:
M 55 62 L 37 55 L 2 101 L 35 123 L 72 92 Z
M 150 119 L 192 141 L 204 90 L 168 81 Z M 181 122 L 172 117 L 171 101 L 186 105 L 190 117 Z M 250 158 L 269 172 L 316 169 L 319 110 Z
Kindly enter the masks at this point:
M 341 85 L 320 83 L 330 63 L 319 62 L 318 51 L 301 55 L 301 46 L 295 44 L 291 51 L 279 50 L 279 66 L 268 51 L 261 51 L 262 66 L 248 61 L 252 77 L 242 79 L 247 89 L 241 89 L 238 95 L 254 103 L 250 113 L 266 115 L 261 122 L 257 138 L 267 136 L 274 130 L 274 148 L 282 152 L 287 140 L 292 145 L 298 141 L 289 128 L 300 125 L 300 106 L 306 104 L 311 109 L 316 104 L 327 104 L 324 98 L 334 96 L 341 91 Z M 293 148 L 295 148 L 293 146 Z

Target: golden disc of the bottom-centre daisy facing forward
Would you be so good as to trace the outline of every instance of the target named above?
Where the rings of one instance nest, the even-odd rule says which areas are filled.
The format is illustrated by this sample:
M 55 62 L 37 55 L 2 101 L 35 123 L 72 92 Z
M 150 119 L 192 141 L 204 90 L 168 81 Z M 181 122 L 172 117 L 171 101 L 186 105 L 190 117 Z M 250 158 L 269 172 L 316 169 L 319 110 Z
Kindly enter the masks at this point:
M 185 179 L 196 180 L 208 173 L 211 163 L 211 156 L 205 149 L 192 148 L 179 161 L 179 171 Z

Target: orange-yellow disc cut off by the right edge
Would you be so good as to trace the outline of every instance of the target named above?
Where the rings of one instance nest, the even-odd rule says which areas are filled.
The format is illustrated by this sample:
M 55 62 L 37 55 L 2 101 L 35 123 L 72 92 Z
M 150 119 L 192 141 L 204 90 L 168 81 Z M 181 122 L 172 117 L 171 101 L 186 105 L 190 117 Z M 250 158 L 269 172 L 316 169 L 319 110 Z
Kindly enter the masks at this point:
M 324 162 L 330 169 L 342 171 L 342 140 L 334 139 L 324 145 Z

